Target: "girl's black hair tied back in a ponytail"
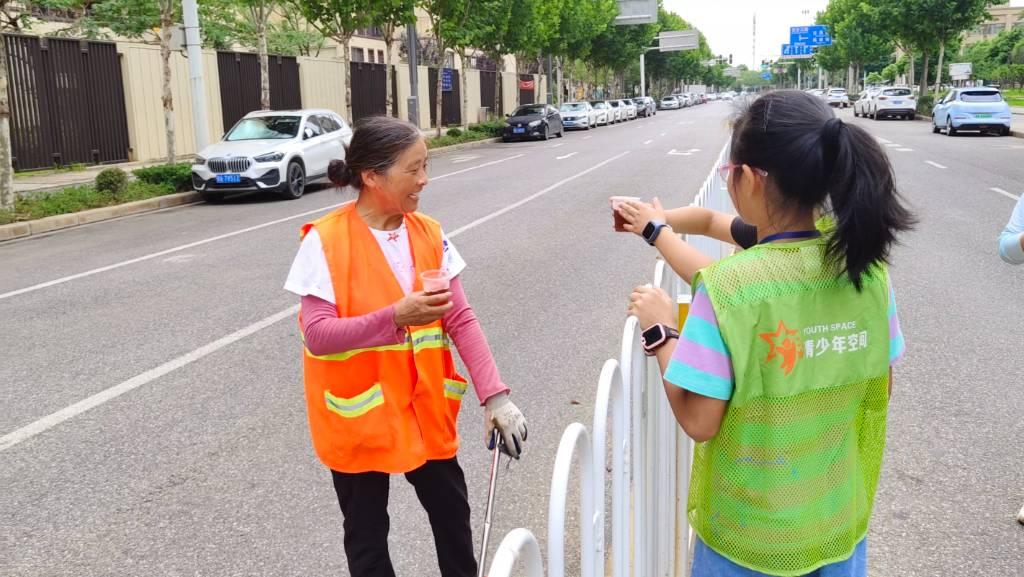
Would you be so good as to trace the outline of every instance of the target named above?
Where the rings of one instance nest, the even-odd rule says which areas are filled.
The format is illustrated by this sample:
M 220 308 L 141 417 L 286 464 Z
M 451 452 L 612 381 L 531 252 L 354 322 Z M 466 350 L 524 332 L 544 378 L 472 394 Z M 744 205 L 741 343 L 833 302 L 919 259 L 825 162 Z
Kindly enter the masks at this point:
M 872 265 L 888 262 L 896 234 L 914 224 L 886 153 L 817 96 L 779 90 L 755 100 L 735 121 L 731 156 L 768 172 L 780 208 L 831 212 L 827 255 L 858 290 Z

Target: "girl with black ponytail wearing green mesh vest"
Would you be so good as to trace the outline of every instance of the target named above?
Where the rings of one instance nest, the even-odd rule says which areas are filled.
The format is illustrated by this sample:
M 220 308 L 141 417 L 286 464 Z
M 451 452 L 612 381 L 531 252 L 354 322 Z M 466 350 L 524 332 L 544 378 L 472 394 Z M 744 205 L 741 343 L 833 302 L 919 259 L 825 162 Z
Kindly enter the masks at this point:
M 874 138 L 800 91 L 751 104 L 719 170 L 757 244 L 718 262 L 666 234 L 659 204 L 623 209 L 684 277 L 708 264 L 682 335 L 664 291 L 630 303 L 696 442 L 692 577 L 863 577 L 904 351 L 886 262 L 913 218 Z

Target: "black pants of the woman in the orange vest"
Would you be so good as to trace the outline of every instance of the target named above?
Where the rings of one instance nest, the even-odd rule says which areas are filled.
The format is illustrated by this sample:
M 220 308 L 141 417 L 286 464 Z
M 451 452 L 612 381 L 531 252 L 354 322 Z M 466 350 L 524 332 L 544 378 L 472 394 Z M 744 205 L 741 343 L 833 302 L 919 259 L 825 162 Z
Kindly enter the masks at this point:
M 345 555 L 352 577 L 394 577 L 387 549 L 386 472 L 338 472 L 334 490 L 345 517 Z M 456 458 L 427 461 L 407 472 L 416 496 L 427 511 L 434 533 L 441 577 L 476 577 L 473 534 L 469 525 L 466 478 Z M 429 573 L 423 573 L 427 575 Z

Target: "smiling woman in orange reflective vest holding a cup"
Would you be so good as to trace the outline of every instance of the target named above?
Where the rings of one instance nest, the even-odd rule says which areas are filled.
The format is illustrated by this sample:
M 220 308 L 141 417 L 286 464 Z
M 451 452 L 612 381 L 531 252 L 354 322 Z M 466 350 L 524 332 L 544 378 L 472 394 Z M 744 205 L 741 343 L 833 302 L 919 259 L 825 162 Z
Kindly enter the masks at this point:
M 456 422 L 469 368 L 497 428 L 518 458 L 526 423 L 509 401 L 463 292 L 459 252 L 436 220 L 416 212 L 427 184 L 427 147 L 408 122 L 375 117 L 355 129 L 329 176 L 354 203 L 302 226 L 285 289 L 302 297 L 304 380 L 316 455 L 344 516 L 353 577 L 393 576 L 388 553 L 390 473 L 404 473 L 430 520 L 443 577 L 476 575 Z M 421 274 L 446 270 L 447 290 Z

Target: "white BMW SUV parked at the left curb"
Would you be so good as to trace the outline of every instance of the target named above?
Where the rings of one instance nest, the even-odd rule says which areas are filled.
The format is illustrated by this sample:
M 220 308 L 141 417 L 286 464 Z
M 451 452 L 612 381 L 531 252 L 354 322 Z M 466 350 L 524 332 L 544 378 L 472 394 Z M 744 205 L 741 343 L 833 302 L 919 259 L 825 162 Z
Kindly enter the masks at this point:
M 333 159 L 345 158 L 352 129 L 329 110 L 258 111 L 193 161 L 193 188 L 216 202 L 225 195 L 270 191 L 286 199 L 327 179 Z

